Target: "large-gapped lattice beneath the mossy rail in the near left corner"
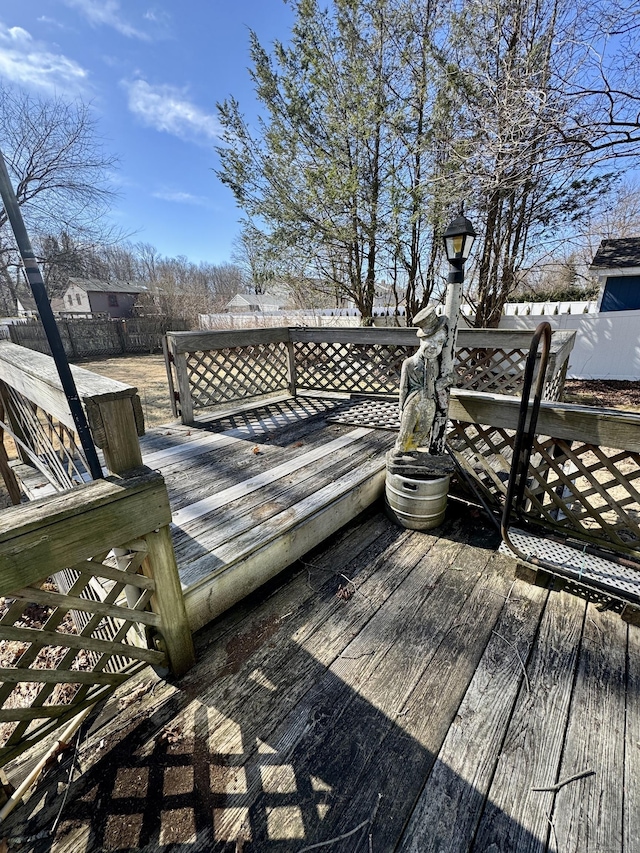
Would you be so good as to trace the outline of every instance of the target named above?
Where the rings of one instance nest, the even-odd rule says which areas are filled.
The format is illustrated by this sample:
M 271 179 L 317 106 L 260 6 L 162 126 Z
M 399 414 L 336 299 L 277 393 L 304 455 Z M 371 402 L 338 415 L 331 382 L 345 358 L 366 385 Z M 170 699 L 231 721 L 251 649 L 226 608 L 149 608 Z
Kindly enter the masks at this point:
M 144 540 L 70 567 L 65 592 L 44 581 L 11 593 L 0 617 L 0 765 L 147 664 L 160 617 L 139 574 Z

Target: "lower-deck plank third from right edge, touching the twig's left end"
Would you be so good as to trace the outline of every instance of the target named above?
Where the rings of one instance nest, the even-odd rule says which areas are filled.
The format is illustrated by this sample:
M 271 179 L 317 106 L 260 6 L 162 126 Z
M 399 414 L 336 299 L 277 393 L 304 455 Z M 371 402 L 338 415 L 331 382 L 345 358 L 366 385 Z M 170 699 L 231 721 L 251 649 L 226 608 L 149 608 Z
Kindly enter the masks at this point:
M 558 778 L 585 607 L 565 592 L 549 597 L 527 666 L 529 689 L 520 689 L 474 851 L 546 849 L 553 794 L 531 788 Z

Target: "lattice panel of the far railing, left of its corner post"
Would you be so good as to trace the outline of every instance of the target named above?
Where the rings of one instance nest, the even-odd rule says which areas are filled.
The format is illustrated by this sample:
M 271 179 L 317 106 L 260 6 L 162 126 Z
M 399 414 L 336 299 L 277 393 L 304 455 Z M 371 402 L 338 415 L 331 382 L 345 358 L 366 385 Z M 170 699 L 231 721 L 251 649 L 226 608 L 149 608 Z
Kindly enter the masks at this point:
M 194 408 L 287 390 L 288 352 L 283 342 L 187 353 Z

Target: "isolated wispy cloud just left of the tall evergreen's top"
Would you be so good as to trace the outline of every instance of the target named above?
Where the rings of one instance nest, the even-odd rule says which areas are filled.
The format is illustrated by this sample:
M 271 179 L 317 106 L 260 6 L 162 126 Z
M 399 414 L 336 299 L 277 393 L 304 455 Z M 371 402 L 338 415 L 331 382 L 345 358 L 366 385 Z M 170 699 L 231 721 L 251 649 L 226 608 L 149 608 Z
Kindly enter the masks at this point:
M 129 92 L 129 109 L 148 127 L 180 139 L 208 141 L 220 137 L 215 116 L 192 103 L 177 86 L 151 86 L 146 80 L 124 83 Z

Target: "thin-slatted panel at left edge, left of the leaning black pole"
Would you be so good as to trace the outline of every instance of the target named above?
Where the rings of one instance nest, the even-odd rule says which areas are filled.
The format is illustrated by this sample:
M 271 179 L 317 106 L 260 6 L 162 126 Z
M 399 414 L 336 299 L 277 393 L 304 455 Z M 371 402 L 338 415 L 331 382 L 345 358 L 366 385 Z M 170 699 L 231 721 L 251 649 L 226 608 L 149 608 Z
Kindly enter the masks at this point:
M 0 402 L 0 427 L 11 436 L 22 459 L 55 491 L 87 479 L 89 466 L 78 434 L 7 385 Z

